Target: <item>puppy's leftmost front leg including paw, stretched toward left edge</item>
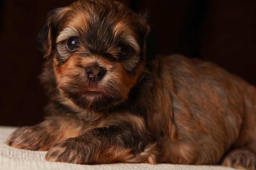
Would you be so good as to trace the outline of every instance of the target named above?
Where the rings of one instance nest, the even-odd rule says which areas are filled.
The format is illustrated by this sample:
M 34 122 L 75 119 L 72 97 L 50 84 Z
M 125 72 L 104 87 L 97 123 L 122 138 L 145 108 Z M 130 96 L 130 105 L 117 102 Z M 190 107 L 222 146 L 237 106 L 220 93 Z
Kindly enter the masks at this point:
M 54 143 L 81 133 L 73 119 L 49 117 L 35 126 L 25 126 L 14 131 L 6 144 L 20 149 L 47 151 Z

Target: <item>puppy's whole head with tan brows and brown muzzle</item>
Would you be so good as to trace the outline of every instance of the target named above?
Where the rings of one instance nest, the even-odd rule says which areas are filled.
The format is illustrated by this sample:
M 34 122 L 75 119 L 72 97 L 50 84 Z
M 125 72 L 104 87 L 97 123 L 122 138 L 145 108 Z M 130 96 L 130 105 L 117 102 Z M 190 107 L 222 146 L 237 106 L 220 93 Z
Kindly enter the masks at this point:
M 128 98 L 144 69 L 148 31 L 121 3 L 84 0 L 53 11 L 39 41 L 64 97 L 100 110 Z

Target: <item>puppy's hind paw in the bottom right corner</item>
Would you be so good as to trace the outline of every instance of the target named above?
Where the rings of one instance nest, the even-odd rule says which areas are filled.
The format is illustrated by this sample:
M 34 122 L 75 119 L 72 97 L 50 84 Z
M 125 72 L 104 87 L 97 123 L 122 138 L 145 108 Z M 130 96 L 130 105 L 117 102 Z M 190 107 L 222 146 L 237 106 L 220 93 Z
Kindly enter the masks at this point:
M 236 169 L 255 169 L 256 156 L 246 149 L 236 149 L 228 153 L 222 165 Z

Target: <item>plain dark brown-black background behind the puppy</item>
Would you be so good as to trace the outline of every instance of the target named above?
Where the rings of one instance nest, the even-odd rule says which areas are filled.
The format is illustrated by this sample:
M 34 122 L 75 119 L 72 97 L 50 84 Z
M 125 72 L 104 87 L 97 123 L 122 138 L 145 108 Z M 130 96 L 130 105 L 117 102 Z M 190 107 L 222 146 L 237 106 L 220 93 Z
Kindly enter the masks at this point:
M 0 0 L 0 125 L 32 125 L 47 103 L 38 75 L 44 59 L 36 35 L 46 13 L 72 0 Z M 213 61 L 256 85 L 255 0 L 123 0 L 151 9 L 158 53 Z

